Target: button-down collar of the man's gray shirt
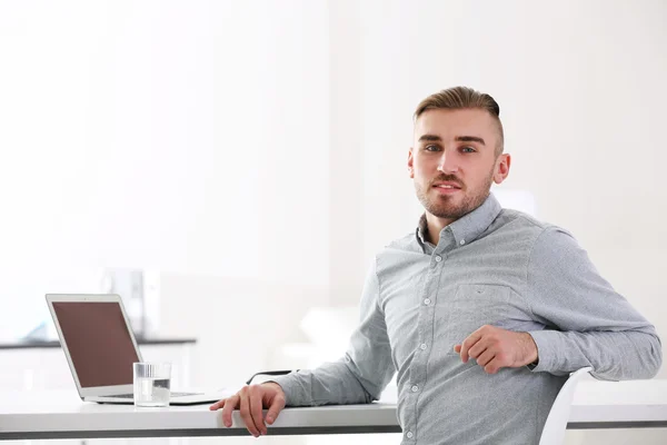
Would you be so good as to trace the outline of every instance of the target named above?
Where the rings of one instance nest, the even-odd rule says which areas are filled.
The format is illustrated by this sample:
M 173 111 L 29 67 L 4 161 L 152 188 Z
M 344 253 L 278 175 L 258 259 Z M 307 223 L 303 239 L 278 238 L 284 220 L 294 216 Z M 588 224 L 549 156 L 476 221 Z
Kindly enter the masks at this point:
M 502 207 L 494 194 L 489 194 L 487 199 L 477 207 L 475 210 L 467 215 L 464 215 L 449 226 L 442 228 L 440 233 L 440 239 L 442 239 L 444 231 L 449 229 L 454 235 L 454 239 L 457 246 L 464 246 L 472 243 L 494 222 L 496 217 L 500 214 Z M 417 226 L 417 241 L 421 247 L 426 245 L 425 235 L 428 231 L 426 222 L 426 214 L 422 214 L 419 218 L 419 225 Z

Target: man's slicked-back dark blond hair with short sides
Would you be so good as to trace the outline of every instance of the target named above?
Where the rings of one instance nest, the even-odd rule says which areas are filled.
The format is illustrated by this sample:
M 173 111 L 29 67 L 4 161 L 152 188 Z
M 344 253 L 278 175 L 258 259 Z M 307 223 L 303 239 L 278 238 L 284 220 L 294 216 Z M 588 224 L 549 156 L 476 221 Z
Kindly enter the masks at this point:
M 502 122 L 500 122 L 500 106 L 490 95 L 479 92 L 468 87 L 454 87 L 424 99 L 415 110 L 415 121 L 427 110 L 447 109 L 461 110 L 477 108 L 487 111 L 498 125 L 500 138 L 496 146 L 496 156 L 500 155 L 505 147 L 505 134 L 502 131 Z

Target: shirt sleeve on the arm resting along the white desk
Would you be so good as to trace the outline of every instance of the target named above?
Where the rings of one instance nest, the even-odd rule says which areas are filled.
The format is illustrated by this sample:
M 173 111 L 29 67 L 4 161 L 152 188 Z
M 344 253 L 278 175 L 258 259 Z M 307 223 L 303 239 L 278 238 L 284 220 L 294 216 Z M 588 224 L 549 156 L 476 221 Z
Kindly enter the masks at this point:
M 316 369 L 271 380 L 282 387 L 288 406 L 361 404 L 380 397 L 396 370 L 379 293 L 374 261 L 364 285 L 360 324 L 351 335 L 345 356 Z

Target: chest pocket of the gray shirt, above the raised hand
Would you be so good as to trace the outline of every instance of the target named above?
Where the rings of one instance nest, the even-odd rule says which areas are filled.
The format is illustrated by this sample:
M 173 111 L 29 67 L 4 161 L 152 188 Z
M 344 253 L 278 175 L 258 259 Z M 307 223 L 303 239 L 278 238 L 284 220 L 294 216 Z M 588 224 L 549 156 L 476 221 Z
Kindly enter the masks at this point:
M 440 332 L 451 354 L 484 325 L 499 326 L 508 317 L 510 288 L 499 285 L 459 285 L 452 298 L 444 298 Z

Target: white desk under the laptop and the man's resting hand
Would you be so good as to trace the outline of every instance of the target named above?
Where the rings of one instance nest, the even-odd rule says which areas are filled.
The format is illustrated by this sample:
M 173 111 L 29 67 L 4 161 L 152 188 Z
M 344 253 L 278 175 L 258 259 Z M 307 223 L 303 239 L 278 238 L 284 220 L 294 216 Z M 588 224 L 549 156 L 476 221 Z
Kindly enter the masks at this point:
M 581 382 L 569 428 L 667 427 L 667 380 Z M 398 433 L 396 405 L 286 408 L 270 435 Z M 238 412 L 226 428 L 208 405 L 136 408 L 82 403 L 74 392 L 0 394 L 0 439 L 239 436 Z

